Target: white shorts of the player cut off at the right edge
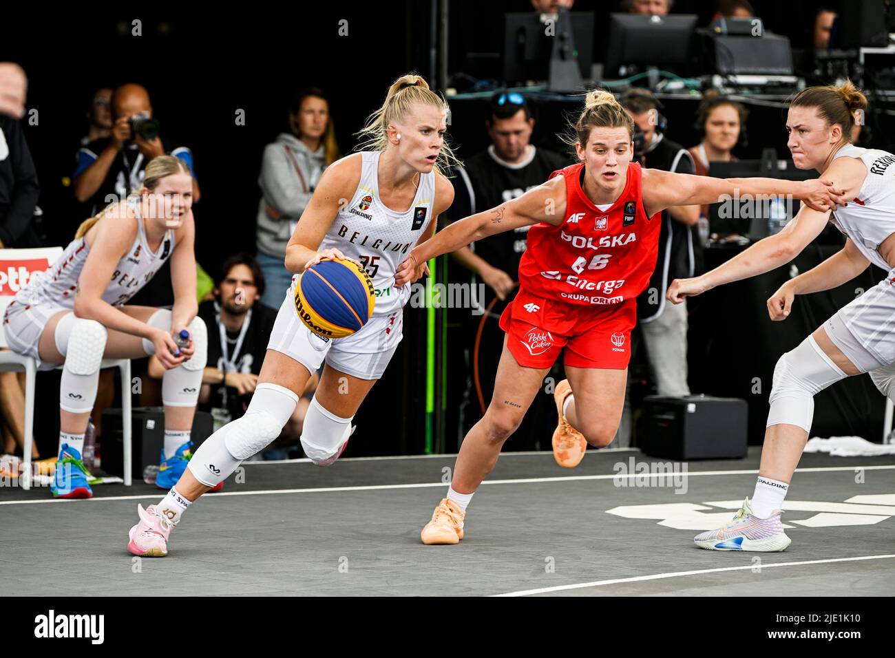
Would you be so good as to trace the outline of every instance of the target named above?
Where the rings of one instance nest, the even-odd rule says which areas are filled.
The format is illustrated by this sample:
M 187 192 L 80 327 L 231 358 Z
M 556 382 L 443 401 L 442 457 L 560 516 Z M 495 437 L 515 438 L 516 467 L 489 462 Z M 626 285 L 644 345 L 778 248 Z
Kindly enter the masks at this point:
M 831 341 L 864 372 L 895 363 L 895 269 L 863 295 L 843 306 L 823 327 Z M 851 334 L 842 337 L 841 327 Z M 850 340 L 853 338 L 854 340 Z M 866 355 L 860 354 L 863 347 Z M 868 358 L 873 357 L 873 359 Z

